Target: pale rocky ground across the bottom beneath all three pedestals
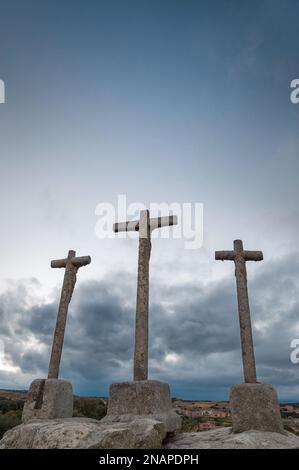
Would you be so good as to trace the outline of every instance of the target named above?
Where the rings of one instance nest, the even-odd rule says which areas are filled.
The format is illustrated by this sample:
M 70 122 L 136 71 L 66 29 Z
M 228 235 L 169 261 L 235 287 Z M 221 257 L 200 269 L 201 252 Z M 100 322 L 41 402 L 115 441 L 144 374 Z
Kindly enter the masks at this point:
M 94 419 L 39 420 L 16 426 L 0 441 L 0 449 L 299 449 L 299 437 L 285 432 L 231 428 L 178 433 L 166 439 L 165 425 L 153 419 L 102 423 Z

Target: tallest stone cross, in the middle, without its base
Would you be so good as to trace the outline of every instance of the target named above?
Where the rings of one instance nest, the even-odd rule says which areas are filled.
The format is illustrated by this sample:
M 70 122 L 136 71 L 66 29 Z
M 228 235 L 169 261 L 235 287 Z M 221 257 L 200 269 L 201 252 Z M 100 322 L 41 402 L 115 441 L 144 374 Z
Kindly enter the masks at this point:
M 142 210 L 140 211 L 140 220 L 113 225 L 114 232 L 139 231 L 134 380 L 147 380 L 148 378 L 148 305 L 151 232 L 156 228 L 176 224 L 176 216 L 150 218 L 149 211 Z

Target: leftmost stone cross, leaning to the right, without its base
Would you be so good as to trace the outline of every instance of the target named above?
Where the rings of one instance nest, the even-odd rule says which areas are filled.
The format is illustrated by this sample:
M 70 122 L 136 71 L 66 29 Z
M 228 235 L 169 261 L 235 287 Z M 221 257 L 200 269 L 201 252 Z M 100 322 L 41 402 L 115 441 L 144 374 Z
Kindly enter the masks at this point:
M 51 268 L 65 268 L 65 273 L 53 338 L 48 379 L 58 379 L 67 311 L 77 280 L 76 274 L 81 266 L 86 266 L 90 262 L 90 256 L 80 256 L 76 258 L 76 252 L 73 250 L 68 252 L 67 258 L 51 261 Z

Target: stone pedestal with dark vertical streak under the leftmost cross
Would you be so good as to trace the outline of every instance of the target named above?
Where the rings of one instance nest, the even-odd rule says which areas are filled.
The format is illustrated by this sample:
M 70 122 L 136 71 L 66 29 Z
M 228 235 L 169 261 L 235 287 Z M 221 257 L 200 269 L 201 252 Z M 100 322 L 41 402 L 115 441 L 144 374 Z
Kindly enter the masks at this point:
M 30 385 L 24 405 L 23 423 L 34 419 L 71 418 L 72 384 L 59 379 L 36 379 Z

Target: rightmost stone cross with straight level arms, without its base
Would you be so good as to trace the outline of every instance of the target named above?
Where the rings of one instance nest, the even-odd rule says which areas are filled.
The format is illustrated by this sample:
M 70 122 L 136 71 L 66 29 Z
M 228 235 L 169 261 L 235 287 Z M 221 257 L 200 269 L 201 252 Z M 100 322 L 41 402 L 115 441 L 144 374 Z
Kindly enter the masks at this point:
M 244 251 L 242 240 L 235 240 L 234 251 L 216 251 L 215 259 L 235 262 L 244 378 L 247 383 L 256 383 L 256 368 L 247 290 L 246 261 L 262 261 L 263 253 L 261 251 Z

